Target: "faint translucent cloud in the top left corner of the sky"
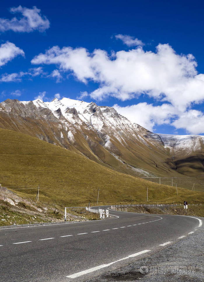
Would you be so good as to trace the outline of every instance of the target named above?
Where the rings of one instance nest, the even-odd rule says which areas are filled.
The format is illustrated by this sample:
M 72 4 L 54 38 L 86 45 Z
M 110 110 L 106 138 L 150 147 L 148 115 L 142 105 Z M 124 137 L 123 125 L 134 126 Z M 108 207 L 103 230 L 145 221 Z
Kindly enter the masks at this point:
M 38 30 L 40 32 L 45 31 L 50 27 L 49 20 L 41 15 L 41 10 L 34 6 L 32 9 L 18 6 L 10 8 L 10 12 L 20 13 L 20 19 L 16 17 L 9 19 L 0 18 L 0 31 L 6 32 L 7 30 L 13 30 L 14 32 L 32 32 Z

